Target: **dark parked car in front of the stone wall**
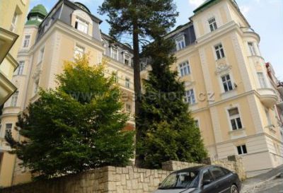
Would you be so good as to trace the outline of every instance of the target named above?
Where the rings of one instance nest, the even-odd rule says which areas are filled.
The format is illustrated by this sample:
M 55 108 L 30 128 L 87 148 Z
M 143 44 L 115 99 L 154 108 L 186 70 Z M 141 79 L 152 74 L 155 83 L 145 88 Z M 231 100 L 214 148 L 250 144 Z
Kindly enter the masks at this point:
M 239 193 L 238 175 L 217 165 L 172 172 L 154 193 Z

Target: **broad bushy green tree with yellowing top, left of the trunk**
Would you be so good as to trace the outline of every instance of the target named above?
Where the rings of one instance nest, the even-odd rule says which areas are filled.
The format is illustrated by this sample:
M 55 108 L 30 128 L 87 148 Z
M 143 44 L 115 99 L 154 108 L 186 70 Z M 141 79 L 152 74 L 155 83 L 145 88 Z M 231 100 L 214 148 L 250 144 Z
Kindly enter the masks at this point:
M 54 177 L 129 163 L 134 133 L 123 130 L 128 115 L 122 112 L 120 90 L 103 70 L 103 64 L 91 66 L 83 56 L 65 63 L 56 89 L 40 90 L 40 98 L 18 117 L 22 140 L 6 136 L 23 166 Z

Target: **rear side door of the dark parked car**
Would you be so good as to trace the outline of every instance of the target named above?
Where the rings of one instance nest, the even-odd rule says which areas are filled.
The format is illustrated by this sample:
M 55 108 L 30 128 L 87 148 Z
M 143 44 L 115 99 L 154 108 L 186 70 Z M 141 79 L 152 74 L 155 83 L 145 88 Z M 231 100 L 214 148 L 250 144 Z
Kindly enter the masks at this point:
M 231 182 L 229 182 L 229 177 L 226 172 L 222 170 L 222 168 L 217 166 L 212 166 L 209 168 L 210 172 L 212 172 L 212 176 L 214 177 L 215 184 L 218 186 L 218 193 L 229 193 Z

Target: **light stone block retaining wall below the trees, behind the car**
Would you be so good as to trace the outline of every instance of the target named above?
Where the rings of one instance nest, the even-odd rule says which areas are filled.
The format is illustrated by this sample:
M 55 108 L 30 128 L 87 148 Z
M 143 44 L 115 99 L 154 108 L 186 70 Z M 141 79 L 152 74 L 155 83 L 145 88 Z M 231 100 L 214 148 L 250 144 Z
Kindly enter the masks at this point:
M 246 176 L 241 158 L 237 156 L 214 161 L 208 159 L 206 163 L 221 165 L 233 170 L 242 180 Z M 168 161 L 163 163 L 163 170 L 147 170 L 133 166 L 124 168 L 107 166 L 76 175 L 0 189 L 0 193 L 151 193 L 173 170 L 196 165 L 200 163 Z

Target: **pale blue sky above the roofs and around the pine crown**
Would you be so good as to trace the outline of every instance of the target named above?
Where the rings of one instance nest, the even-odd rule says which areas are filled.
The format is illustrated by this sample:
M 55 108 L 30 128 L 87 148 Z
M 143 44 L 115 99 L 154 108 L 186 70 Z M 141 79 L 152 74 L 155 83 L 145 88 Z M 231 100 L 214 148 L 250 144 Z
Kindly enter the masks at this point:
M 98 6 L 103 0 L 76 0 L 86 5 L 103 23 L 100 29 L 108 33 L 107 16 L 100 16 Z M 174 0 L 179 12 L 175 26 L 183 25 L 193 15 L 192 11 L 205 0 Z M 236 0 L 251 28 L 260 35 L 260 51 L 265 62 L 270 62 L 279 80 L 283 81 L 283 0 Z M 57 0 L 30 0 L 30 8 L 43 4 L 47 11 Z

